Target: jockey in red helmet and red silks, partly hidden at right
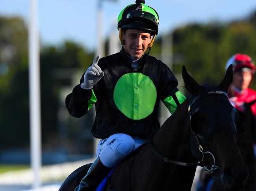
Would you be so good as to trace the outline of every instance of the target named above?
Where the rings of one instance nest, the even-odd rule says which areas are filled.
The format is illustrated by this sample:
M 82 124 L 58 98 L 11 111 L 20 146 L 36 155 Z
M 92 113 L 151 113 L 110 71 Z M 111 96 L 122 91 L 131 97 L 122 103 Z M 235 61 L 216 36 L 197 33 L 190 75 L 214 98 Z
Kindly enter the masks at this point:
M 228 90 L 228 97 L 234 107 L 244 111 L 244 103 L 256 100 L 256 91 L 249 88 L 254 78 L 255 65 L 250 56 L 242 54 L 236 54 L 229 58 L 226 69 L 230 64 L 233 65 L 234 74 L 233 82 Z M 251 111 L 256 117 L 256 104 L 251 106 Z

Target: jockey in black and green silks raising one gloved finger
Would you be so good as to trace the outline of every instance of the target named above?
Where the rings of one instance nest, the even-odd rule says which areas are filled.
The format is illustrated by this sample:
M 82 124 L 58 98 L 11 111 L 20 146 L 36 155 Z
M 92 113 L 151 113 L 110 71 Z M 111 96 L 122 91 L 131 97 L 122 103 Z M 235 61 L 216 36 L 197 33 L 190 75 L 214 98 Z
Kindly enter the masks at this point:
M 95 104 L 91 133 L 101 139 L 96 160 L 76 191 L 95 190 L 113 167 L 160 129 L 160 100 L 173 113 L 186 99 L 169 67 L 148 55 L 158 24 L 158 13 L 144 0 L 126 6 L 117 24 L 121 51 L 100 59 L 96 56 L 66 97 L 70 115 L 77 118 Z

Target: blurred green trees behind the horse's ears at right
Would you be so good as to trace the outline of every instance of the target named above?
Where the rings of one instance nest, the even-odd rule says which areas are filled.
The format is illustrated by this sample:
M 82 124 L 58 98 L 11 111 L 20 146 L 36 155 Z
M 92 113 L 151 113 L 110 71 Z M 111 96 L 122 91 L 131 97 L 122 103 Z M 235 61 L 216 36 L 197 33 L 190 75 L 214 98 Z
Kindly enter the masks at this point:
M 185 59 L 180 65 L 174 65 L 174 73 L 180 73 L 184 64 L 199 83 L 217 85 L 232 55 L 243 53 L 256 60 L 254 23 L 255 18 L 248 18 L 228 24 L 215 22 L 177 28 L 173 33 L 173 51 Z

